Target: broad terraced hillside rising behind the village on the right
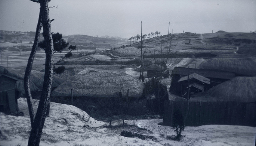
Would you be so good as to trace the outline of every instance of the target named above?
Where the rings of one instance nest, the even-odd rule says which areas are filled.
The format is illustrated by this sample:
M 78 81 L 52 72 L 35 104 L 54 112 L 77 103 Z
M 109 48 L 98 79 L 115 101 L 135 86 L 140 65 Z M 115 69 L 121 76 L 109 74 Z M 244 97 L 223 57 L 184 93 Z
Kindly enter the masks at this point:
M 149 57 L 159 57 L 161 48 L 163 54 L 169 57 L 207 58 L 220 54 L 253 53 L 256 54 L 256 33 L 224 32 L 216 33 L 178 33 L 142 40 L 142 50 Z M 141 49 L 141 42 L 132 42 L 126 47 Z M 166 48 L 166 49 L 164 49 Z M 239 50 L 241 48 L 241 50 Z M 117 48 L 119 49 L 119 48 Z M 129 50 L 129 48 L 127 48 Z M 169 52 L 170 50 L 170 52 Z M 245 50 L 245 51 L 243 51 Z M 169 54 L 169 55 L 168 55 Z M 134 54 L 133 54 L 134 55 Z M 140 52 L 137 56 L 140 56 Z

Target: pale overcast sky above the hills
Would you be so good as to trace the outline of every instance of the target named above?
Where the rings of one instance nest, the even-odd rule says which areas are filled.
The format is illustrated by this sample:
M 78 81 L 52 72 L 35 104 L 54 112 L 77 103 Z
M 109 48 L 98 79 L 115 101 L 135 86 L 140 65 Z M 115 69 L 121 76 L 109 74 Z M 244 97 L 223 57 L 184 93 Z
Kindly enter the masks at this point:
M 51 0 L 52 32 L 119 36 L 256 31 L 256 0 Z M 40 5 L 0 0 L 0 30 L 36 31 Z

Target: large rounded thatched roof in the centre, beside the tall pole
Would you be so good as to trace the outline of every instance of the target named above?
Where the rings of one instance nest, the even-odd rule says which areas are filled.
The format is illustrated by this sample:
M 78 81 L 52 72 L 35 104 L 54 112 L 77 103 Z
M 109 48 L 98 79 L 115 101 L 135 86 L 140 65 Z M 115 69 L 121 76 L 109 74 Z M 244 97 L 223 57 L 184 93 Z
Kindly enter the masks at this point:
M 88 68 L 59 85 L 52 96 L 70 96 L 71 88 L 74 97 L 119 97 L 119 92 L 125 97 L 128 89 L 128 97 L 140 97 L 144 84 L 123 72 Z

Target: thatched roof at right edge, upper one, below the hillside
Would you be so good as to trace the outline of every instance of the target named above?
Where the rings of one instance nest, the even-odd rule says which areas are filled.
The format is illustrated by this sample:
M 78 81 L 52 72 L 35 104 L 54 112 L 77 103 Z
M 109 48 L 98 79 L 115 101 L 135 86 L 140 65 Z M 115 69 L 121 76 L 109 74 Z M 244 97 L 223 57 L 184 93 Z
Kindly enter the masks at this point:
M 256 58 L 212 58 L 200 65 L 201 69 L 234 72 L 238 75 L 255 76 Z

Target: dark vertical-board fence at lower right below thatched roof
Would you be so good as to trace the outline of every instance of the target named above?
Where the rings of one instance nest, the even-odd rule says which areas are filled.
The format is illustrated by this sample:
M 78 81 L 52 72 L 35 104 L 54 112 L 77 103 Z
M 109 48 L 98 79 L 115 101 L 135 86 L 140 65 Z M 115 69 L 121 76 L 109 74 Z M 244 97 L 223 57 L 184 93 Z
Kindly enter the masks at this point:
M 175 110 L 181 112 L 184 117 L 187 111 L 187 102 L 165 101 L 163 125 L 173 126 L 173 111 Z M 207 124 L 256 126 L 256 102 L 189 101 L 185 126 Z

